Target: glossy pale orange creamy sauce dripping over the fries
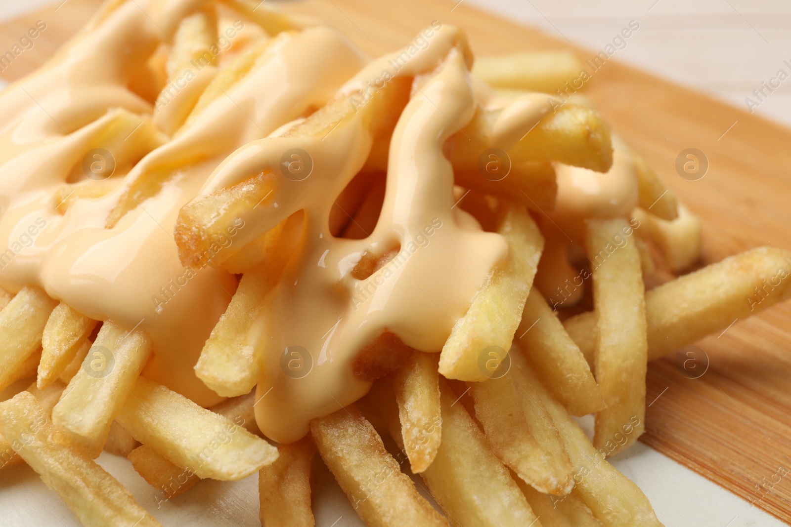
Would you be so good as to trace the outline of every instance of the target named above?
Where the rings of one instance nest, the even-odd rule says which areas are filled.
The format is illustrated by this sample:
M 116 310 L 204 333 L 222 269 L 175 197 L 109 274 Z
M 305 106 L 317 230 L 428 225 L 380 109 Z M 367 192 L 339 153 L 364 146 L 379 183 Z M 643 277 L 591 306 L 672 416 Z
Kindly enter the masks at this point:
M 198 88 L 187 88 L 153 119 L 152 105 L 127 88 L 160 43 L 168 43 L 163 32 L 173 34 L 180 17 L 202 2 L 154 9 L 157 5 L 126 2 L 44 69 L 0 94 L 0 241 L 12 247 L 37 226 L 35 239 L 13 251 L 0 269 L 0 285 L 15 291 L 36 284 L 91 318 L 146 329 L 154 349 L 143 375 L 212 405 L 220 397 L 199 382 L 193 367 L 236 280 L 221 269 L 180 265 L 172 238 L 176 216 L 195 195 L 260 171 L 278 173 L 283 152 L 304 149 L 312 156 L 311 175 L 300 182 L 278 180 L 255 222 L 240 226 L 230 241 L 243 247 L 290 214 L 305 211 L 301 246 L 248 335 L 252 345 L 267 350 L 256 420 L 271 439 L 290 442 L 305 434 L 311 419 L 369 389 L 353 375 L 351 363 L 383 331 L 413 348 L 439 352 L 486 276 L 505 258 L 504 239 L 483 232 L 475 218 L 453 206 L 453 171 L 443 155 L 446 141 L 470 122 L 476 105 L 495 104 L 496 98 L 484 100 L 483 88 L 473 89 L 456 28 L 433 26 L 426 47 L 405 48 L 408 59 L 399 51 L 374 62 L 329 28 L 282 33 L 252 71 L 190 126 L 127 174 L 114 175 L 115 190 L 102 198 L 76 199 L 61 214 L 55 194 L 74 183 L 80 173 L 74 167 L 103 145 L 102 134 L 119 112 L 146 126 L 153 122 L 174 130 L 178 116 L 187 113 L 178 105 L 195 103 Z M 380 85 L 385 70 L 417 81 L 390 143 L 384 206 L 369 237 L 335 239 L 328 225 L 332 198 L 365 164 L 372 138 L 359 119 L 326 137 L 280 136 L 287 123 L 336 92 L 351 96 L 366 83 Z M 214 74 L 206 70 L 205 78 L 192 82 L 205 85 Z M 493 141 L 504 149 L 549 110 L 546 96 L 536 94 L 502 107 Z M 463 141 L 456 138 L 456 144 Z M 628 213 L 634 206 L 629 180 L 634 168 L 618 152 L 615 159 L 607 175 L 558 166 L 553 217 Z M 127 189 L 168 164 L 180 168 L 161 192 L 105 228 Z M 399 255 L 371 277 L 351 276 L 365 251 L 381 253 L 394 245 L 401 247 Z M 293 346 L 312 356 L 305 377 L 286 375 L 281 366 L 283 353 Z

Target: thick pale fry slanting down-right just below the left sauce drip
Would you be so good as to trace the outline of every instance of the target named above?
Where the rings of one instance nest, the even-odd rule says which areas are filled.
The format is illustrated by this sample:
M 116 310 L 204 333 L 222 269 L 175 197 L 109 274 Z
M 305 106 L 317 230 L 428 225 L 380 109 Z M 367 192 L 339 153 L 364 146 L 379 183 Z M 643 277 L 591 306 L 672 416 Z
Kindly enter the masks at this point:
M 268 442 L 144 377 L 116 419 L 134 439 L 200 478 L 241 480 L 278 458 Z

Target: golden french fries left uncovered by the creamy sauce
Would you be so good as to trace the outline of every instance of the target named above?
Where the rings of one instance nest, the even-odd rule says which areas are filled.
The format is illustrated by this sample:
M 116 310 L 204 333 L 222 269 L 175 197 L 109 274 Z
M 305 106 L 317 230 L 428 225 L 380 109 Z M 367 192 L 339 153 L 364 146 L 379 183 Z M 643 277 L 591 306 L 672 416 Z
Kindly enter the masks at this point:
M 146 100 L 149 115 L 108 108 L 97 117 L 112 124 L 105 128 L 105 144 L 115 145 L 119 165 L 144 163 L 174 138 L 191 134 L 208 108 L 229 104 L 224 92 L 255 81 L 255 70 L 271 60 L 269 47 L 320 26 L 254 0 L 107 0 L 75 39 L 93 39 L 100 46 L 102 32 L 130 9 L 181 17 L 172 37 L 163 34 L 152 51 L 147 73 L 123 87 Z M 233 20 L 244 21 L 252 36 L 228 54 L 214 53 L 218 35 Z M 577 295 L 553 309 L 547 300 L 554 292 L 542 291 L 546 268 L 554 266 L 547 263 L 548 248 L 559 244 L 566 250 L 567 241 L 559 239 L 547 216 L 557 192 L 555 168 L 566 164 L 607 172 L 614 139 L 596 111 L 580 100 L 547 112 L 535 125 L 527 123 L 530 130 L 516 144 L 498 142 L 499 110 L 483 98 L 513 97 L 536 86 L 551 91 L 566 73 L 575 73 L 573 57 L 483 58 L 471 77 L 464 33 L 448 26 L 442 31 L 452 38 L 443 41 L 448 48 L 440 62 L 400 74 L 367 94 L 364 105 L 350 104 L 348 93 L 339 91 L 296 121 L 278 122 L 275 134 L 333 141 L 344 130 L 356 130 L 369 138 L 365 167 L 341 194 L 327 195 L 335 205 L 329 218 L 333 235 L 364 239 L 377 225 L 386 179 L 396 177 L 384 173 L 405 107 L 442 72 L 455 68 L 474 78 L 470 82 L 482 101 L 445 152 L 456 184 L 448 189 L 448 206 L 458 205 L 479 230 L 498 233 L 507 255 L 490 269 L 441 349 L 414 350 L 384 333 L 354 360 L 354 374 L 370 382 L 365 397 L 312 420 L 303 439 L 268 441 L 255 423 L 253 389 L 273 375 L 265 367 L 267 353 L 282 350 L 267 350 L 255 334 L 264 299 L 303 243 L 305 218 L 301 211 L 285 215 L 273 209 L 277 204 L 270 194 L 277 194 L 278 182 L 261 171 L 195 196 L 172 231 L 173 249 L 177 246 L 184 265 L 208 263 L 240 275 L 195 365 L 206 386 L 229 398 L 202 408 L 143 377 L 157 352 L 145 330 L 93 320 L 36 284 L 6 284 L 8 291 L 0 291 L 0 388 L 33 376 L 35 381 L 0 403 L 0 469 L 27 463 L 83 525 L 160 525 L 93 461 L 102 450 L 127 457 L 163 499 L 176 498 L 202 479 L 240 480 L 258 472 L 260 519 L 269 527 L 315 525 L 316 453 L 362 521 L 375 527 L 660 525 L 642 491 L 607 461 L 645 430 L 647 361 L 787 299 L 791 282 L 772 280 L 791 254 L 770 247 L 748 250 L 646 290 L 647 279 L 657 281 L 657 265 L 682 273 L 698 262 L 701 228 L 645 161 L 628 152 L 636 167 L 637 208 L 624 216 L 581 218 L 581 238 L 574 245 L 595 261 L 618 236 L 628 243 L 607 250 L 592 266 L 583 286 L 592 295 Z M 167 97 L 168 81 L 209 52 L 216 71 L 195 79 L 199 89 L 189 111 L 153 118 L 157 101 Z M 71 58 L 59 54 L 47 67 Z M 30 78 L 35 80 L 17 86 Z M 3 104 L 13 100 L 0 96 L 0 109 Z M 140 130 L 134 128 L 138 122 Z M 124 137 L 132 129 L 135 139 L 127 143 Z M 259 138 L 273 131 L 261 130 Z M 504 179 L 479 174 L 479 156 L 492 148 L 506 151 L 511 160 Z M 184 166 L 192 163 L 194 158 L 183 160 Z M 178 168 L 155 167 L 134 179 L 64 183 L 53 207 L 65 213 L 75 200 L 124 186 L 124 198 L 108 213 L 106 228 L 112 229 L 130 210 L 159 195 Z M 239 238 L 244 243 L 233 254 L 207 261 L 206 251 L 215 252 L 213 240 L 240 219 L 246 225 Z M 395 254 L 363 254 L 350 273 L 369 277 Z M 564 256 L 558 269 L 572 276 L 589 268 L 587 262 L 577 264 Z M 750 302 L 755 288 L 767 281 L 771 291 L 761 302 Z M 588 311 L 581 309 L 586 302 Z M 567 309 L 571 304 L 576 307 Z M 588 414 L 596 416 L 592 439 L 573 419 Z M 410 474 L 419 476 L 418 485 L 439 509 L 418 492 Z

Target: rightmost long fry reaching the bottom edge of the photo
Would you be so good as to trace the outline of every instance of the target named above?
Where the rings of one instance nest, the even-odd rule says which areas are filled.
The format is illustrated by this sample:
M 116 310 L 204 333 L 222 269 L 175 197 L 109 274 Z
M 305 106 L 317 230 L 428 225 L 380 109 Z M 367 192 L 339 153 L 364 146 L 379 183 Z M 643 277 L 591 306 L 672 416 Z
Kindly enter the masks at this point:
M 525 384 L 532 386 L 538 401 L 547 412 L 566 442 L 566 450 L 577 472 L 574 492 L 605 527 L 662 527 L 649 500 L 637 485 L 610 465 L 592 445 L 588 436 L 574 421 L 566 408 L 551 396 L 546 386 L 527 361 L 515 357 L 514 375 L 524 375 Z

